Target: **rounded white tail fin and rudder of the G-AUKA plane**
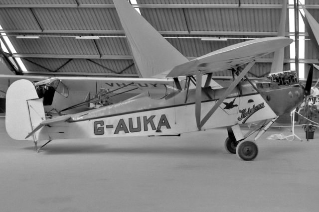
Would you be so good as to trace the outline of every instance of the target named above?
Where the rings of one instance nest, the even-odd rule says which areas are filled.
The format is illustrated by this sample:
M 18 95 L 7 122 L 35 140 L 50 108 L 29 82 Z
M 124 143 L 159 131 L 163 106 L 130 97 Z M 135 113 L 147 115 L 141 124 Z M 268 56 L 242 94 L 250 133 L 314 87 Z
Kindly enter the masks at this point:
M 25 137 L 45 120 L 42 99 L 38 99 L 33 84 L 28 80 L 12 83 L 6 93 L 5 107 L 6 132 L 15 140 L 25 140 Z M 35 136 L 29 140 L 35 141 Z

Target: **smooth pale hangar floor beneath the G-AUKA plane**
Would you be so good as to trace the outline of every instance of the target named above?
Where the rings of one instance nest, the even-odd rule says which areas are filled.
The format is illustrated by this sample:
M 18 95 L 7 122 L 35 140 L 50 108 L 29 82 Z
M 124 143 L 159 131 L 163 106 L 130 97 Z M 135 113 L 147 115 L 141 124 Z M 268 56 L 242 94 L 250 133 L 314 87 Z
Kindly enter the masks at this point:
M 305 139 L 305 133 L 297 128 Z M 1 212 L 318 212 L 319 135 L 226 153 L 225 129 L 181 137 L 52 141 L 40 153 L 0 118 Z

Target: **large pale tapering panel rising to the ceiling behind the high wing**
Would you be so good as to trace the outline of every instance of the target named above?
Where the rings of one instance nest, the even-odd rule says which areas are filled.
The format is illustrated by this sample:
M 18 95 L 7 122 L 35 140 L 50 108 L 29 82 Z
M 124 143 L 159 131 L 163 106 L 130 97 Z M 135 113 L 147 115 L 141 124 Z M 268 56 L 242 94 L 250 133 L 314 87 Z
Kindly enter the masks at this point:
M 153 77 L 188 62 L 127 0 L 113 2 L 140 77 Z

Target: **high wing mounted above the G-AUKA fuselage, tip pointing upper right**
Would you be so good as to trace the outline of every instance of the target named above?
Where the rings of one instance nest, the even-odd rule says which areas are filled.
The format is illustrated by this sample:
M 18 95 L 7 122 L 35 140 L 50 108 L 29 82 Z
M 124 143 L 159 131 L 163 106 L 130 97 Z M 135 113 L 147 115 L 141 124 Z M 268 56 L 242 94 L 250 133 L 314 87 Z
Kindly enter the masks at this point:
M 208 74 L 250 63 L 293 42 L 286 37 L 265 37 L 237 43 L 175 66 L 166 77 Z

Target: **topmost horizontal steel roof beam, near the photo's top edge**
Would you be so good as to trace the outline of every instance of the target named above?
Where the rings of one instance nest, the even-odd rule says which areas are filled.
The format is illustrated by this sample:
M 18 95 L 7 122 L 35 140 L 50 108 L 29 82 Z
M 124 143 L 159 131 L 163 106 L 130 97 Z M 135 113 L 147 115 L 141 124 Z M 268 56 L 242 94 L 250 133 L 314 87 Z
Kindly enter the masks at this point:
M 235 4 L 235 3 L 222 3 L 222 4 L 132 4 L 135 8 L 262 8 L 262 9 L 281 9 L 282 4 Z M 306 8 L 317 9 L 319 4 L 306 4 Z M 114 8 L 114 4 L 86 4 L 86 3 L 17 3 L 17 4 L 0 4 L 0 8 Z M 289 4 L 288 8 L 294 8 L 293 4 Z M 299 6 L 299 8 L 302 8 Z

